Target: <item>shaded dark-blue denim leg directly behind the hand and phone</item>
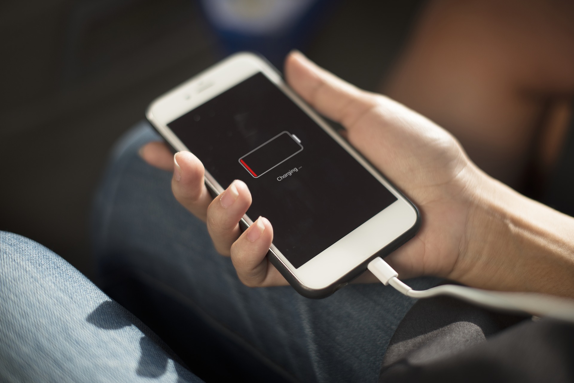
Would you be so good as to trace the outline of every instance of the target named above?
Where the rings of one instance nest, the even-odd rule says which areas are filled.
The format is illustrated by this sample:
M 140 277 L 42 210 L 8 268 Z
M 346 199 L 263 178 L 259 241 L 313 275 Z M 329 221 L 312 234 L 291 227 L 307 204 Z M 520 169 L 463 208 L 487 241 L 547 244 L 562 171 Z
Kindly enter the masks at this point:
M 348 285 L 322 300 L 291 287 L 243 286 L 204 223 L 173 198 L 172 175 L 138 157 L 150 140 L 159 137 L 145 122 L 123 138 L 98 194 L 94 243 L 104 290 L 138 315 L 152 313 L 142 320 L 154 322 L 158 334 L 176 334 L 168 342 L 174 350 L 193 349 L 185 334 L 194 329 L 181 318 L 195 312 L 239 345 L 238 357 L 254 355 L 286 380 L 377 381 L 390 338 L 414 300 L 380 284 Z M 416 289 L 436 283 L 409 281 Z

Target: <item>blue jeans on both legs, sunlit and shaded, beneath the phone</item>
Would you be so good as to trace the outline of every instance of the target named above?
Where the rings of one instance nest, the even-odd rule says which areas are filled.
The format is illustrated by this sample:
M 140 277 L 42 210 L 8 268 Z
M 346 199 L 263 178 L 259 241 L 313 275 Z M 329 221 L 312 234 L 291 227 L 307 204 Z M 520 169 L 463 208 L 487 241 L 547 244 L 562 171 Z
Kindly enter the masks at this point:
M 96 198 L 93 239 L 108 295 L 45 247 L 0 233 L 0 380 L 201 381 L 189 367 L 200 376 L 215 368 L 261 380 L 377 381 L 414 300 L 380 284 L 322 300 L 243 286 L 204 224 L 173 198 L 170 173 L 138 157 L 158 139 L 147 123 L 132 129 Z

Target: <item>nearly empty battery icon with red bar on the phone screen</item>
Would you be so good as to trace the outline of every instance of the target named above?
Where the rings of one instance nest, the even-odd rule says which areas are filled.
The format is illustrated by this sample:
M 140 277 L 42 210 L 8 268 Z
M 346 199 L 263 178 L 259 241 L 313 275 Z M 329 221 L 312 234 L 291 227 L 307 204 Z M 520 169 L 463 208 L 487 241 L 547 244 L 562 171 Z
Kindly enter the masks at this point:
M 239 163 L 254 178 L 261 177 L 303 150 L 301 140 L 288 131 L 282 131 L 239 158 Z

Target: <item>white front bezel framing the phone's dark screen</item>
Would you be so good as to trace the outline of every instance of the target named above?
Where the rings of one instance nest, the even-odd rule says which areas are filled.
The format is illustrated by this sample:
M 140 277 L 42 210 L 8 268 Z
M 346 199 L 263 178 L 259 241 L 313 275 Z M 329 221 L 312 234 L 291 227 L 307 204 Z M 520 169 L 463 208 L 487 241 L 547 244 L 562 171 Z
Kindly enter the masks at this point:
M 398 247 L 416 233 L 419 216 L 416 207 L 389 183 L 373 166 L 352 148 L 331 126 L 301 100 L 282 80 L 276 71 L 261 57 L 253 53 L 236 53 L 220 63 L 206 69 L 180 86 L 154 100 L 146 116 L 157 131 L 176 150 L 189 150 L 169 129 L 168 123 L 189 113 L 197 106 L 207 102 L 257 72 L 262 72 L 272 83 L 309 115 L 329 136 L 350 153 L 364 168 L 381 182 L 397 201 L 385 208 L 373 218 L 367 220 L 339 241 L 299 268 L 294 268 L 285 256 L 273 244 L 270 250 L 281 262 L 280 271 L 288 271 L 288 280 L 301 284 L 298 291 L 327 291 L 333 285 L 346 284 L 366 268 L 365 262 L 373 258 L 386 247 Z M 224 188 L 209 172 L 205 171 L 205 184 L 216 194 Z M 358 185 L 360 187 L 360 185 Z M 246 225 L 253 224 L 249 216 L 243 216 Z M 399 239 L 402 240 L 397 245 Z M 392 245 L 392 246 L 391 246 Z M 276 262 L 274 262 L 276 264 Z M 277 264 L 276 264 L 277 265 Z M 363 267 L 364 266 L 364 267 Z M 284 268 L 284 270 L 281 270 Z M 285 273 L 284 273 L 285 275 Z M 287 277 L 287 276 L 286 276 Z M 346 278 L 347 277 L 347 278 Z M 334 291 L 334 289 L 332 289 Z M 308 294 L 304 294 L 308 295 Z

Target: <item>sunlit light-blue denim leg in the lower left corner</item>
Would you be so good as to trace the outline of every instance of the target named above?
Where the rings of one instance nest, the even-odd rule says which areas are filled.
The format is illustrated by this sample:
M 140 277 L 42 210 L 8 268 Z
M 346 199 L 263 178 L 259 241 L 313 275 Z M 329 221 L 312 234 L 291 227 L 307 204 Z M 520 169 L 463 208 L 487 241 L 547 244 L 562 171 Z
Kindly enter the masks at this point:
M 46 247 L 0 231 L 0 381 L 200 382 Z

